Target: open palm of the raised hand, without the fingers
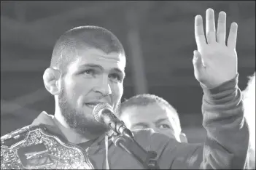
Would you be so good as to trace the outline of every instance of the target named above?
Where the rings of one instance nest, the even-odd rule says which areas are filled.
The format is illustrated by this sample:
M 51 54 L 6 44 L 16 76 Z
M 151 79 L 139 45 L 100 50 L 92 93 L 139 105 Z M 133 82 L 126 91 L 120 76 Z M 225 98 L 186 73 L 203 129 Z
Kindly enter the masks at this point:
M 206 44 L 199 49 L 205 67 L 195 71 L 195 77 L 205 86 L 212 88 L 219 86 L 237 73 L 237 54 L 223 44 Z

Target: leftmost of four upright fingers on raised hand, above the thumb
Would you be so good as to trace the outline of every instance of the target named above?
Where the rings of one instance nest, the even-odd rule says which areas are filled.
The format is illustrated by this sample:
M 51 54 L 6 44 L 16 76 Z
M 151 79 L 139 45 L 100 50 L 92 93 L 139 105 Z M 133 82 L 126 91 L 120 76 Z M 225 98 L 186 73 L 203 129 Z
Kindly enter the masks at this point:
M 206 44 L 203 32 L 203 18 L 201 15 L 195 16 L 195 41 L 197 46 L 203 46 Z

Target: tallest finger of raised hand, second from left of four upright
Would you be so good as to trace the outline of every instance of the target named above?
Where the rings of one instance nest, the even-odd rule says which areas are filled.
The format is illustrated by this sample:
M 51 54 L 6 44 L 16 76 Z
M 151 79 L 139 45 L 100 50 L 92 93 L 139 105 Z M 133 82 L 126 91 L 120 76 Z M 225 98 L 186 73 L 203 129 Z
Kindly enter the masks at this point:
M 216 41 L 214 10 L 211 8 L 206 10 L 206 38 L 208 44 Z

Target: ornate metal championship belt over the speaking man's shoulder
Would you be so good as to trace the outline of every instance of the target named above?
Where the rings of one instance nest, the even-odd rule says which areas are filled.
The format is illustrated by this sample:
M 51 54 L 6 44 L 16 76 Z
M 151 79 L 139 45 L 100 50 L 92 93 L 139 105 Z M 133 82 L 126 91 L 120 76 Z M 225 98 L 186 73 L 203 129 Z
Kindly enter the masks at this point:
M 26 126 L 1 137 L 1 169 L 93 169 L 93 165 L 81 147 L 62 142 L 42 126 Z

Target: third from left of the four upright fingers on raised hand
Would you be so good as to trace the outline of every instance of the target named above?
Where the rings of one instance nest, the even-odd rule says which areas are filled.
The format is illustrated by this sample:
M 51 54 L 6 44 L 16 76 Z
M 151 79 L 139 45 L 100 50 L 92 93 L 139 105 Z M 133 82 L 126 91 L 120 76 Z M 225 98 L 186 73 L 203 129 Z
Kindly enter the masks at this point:
M 217 27 L 217 42 L 225 44 L 226 39 L 226 13 L 220 12 Z

